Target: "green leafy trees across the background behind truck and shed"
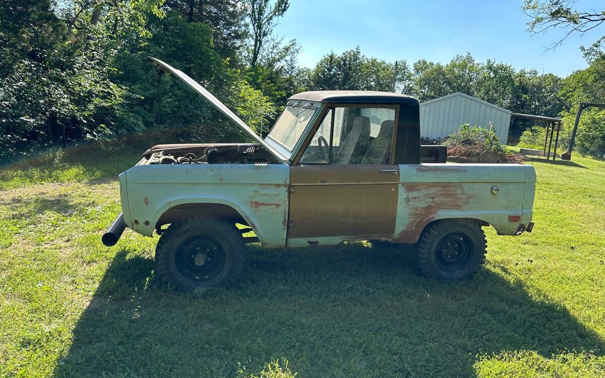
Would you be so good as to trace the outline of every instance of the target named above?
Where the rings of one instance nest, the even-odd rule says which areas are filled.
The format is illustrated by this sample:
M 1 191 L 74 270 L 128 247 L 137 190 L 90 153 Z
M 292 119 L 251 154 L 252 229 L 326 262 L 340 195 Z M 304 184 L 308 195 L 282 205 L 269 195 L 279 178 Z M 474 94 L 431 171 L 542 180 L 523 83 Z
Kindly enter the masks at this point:
M 184 71 L 257 131 L 272 123 L 287 97 L 304 90 L 391 91 L 394 84 L 397 92 L 420 101 L 460 91 L 513 112 L 561 115 L 566 126 L 578 102 L 605 98 L 601 40 L 583 50 L 589 68 L 564 78 L 494 60 L 478 62 L 469 53 L 446 64 L 402 59 L 395 71 L 395 62 L 365 56 L 359 48 L 329 52 L 315 67 L 299 67 L 301 45 L 275 32 L 289 5 L 288 0 L 4 0 L 0 160 L 150 129 L 204 129 L 215 141 L 241 137 L 217 126 L 219 116 L 208 104 L 159 76 L 146 56 Z M 548 11 L 531 6 L 527 2 L 523 10 Z M 578 149 L 603 158 L 603 112 L 591 110 L 584 118 Z M 515 122 L 511 135 L 530 126 Z

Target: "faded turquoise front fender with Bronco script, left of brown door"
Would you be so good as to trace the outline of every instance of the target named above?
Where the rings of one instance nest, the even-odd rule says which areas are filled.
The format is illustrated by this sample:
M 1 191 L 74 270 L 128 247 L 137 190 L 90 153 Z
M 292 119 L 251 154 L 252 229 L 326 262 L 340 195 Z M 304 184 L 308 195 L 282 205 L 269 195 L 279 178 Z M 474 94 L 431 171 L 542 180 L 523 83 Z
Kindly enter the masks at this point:
M 136 232 L 151 236 L 160 216 L 170 207 L 224 204 L 240 213 L 263 246 L 283 247 L 288 172 L 289 167 L 282 164 L 134 166 L 123 174 L 128 188 L 122 191 L 122 208 L 128 209 L 124 220 Z

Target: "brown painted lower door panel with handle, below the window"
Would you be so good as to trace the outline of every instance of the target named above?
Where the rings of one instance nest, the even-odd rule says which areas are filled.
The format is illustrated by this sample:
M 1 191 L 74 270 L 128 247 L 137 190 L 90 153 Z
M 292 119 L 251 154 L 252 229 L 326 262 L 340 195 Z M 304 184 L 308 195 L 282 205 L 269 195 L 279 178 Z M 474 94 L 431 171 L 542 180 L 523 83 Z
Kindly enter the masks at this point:
M 294 226 L 289 227 L 288 237 L 392 239 L 398 181 L 395 165 L 290 167 L 290 221 Z

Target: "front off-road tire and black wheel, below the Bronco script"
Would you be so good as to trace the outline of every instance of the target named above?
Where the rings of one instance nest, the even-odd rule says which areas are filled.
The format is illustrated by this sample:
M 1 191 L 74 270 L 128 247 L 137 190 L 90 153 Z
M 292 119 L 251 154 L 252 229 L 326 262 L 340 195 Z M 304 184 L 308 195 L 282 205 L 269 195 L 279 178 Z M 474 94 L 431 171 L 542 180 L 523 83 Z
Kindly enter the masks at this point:
M 200 246 L 201 253 L 209 251 L 203 255 L 205 258 L 201 258 L 205 259 L 203 264 L 208 264 L 205 267 L 202 267 L 203 264 L 197 266 L 198 262 L 193 263 L 197 259 L 193 259 L 195 253 L 200 253 Z M 208 257 L 212 253 L 215 261 L 209 261 Z M 208 273 L 214 272 L 212 270 L 201 273 L 195 270 L 208 269 L 211 263 L 216 264 L 215 275 Z M 241 233 L 235 224 L 220 218 L 196 217 L 173 223 L 160 236 L 155 247 L 157 277 L 172 287 L 185 291 L 232 286 L 243 273 L 245 264 L 246 249 Z

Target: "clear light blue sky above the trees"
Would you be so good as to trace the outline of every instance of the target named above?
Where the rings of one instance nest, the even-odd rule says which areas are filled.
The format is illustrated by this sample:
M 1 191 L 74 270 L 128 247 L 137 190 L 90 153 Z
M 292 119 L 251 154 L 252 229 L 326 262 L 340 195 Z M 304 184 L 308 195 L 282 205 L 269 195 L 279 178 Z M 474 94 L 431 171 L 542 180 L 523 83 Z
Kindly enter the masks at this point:
M 477 60 L 495 59 L 514 68 L 535 68 L 566 76 L 586 68 L 580 45 L 605 34 L 605 25 L 566 39 L 554 51 L 563 30 L 532 36 L 529 18 L 518 0 L 291 0 L 278 34 L 302 45 L 298 62 L 313 67 L 321 57 L 355 48 L 390 62 L 418 59 L 449 62 L 467 51 Z M 602 0 L 584 0 L 578 8 L 603 11 Z

